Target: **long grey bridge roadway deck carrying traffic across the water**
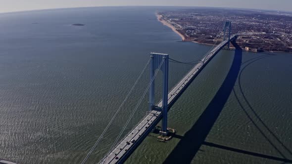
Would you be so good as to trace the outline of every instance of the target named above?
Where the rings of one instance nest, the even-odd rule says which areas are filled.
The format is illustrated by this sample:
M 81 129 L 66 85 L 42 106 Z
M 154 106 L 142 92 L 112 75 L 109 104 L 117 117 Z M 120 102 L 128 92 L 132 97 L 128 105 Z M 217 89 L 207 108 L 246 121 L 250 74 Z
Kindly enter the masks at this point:
M 234 41 L 235 39 L 236 35 L 233 35 L 231 36 L 230 41 Z M 168 110 L 191 82 L 193 82 L 201 70 L 227 43 L 228 40 L 222 41 L 217 45 L 208 55 L 203 57 L 175 87 L 172 88 L 168 93 Z M 157 107 L 162 107 L 162 101 Z M 161 111 L 149 111 L 149 113 L 112 150 L 110 150 L 110 153 L 107 154 L 99 164 L 120 164 L 125 162 L 161 119 Z

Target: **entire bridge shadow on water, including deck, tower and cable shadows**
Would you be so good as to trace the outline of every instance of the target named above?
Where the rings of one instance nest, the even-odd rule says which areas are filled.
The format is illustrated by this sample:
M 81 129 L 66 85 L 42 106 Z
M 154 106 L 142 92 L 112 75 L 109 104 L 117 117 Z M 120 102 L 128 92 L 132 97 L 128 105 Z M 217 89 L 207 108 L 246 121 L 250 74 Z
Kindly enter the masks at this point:
M 214 123 L 216 122 L 217 118 L 219 117 L 219 115 L 220 115 L 225 103 L 227 102 L 230 94 L 232 93 L 232 91 L 234 91 L 233 88 L 234 88 L 234 85 L 235 85 L 238 78 L 239 78 L 239 85 L 241 85 L 240 77 L 241 77 L 241 74 L 242 74 L 244 68 L 246 67 L 245 66 L 243 68 L 243 70 L 241 71 L 241 65 L 245 64 L 245 63 L 247 63 L 247 65 L 249 65 L 250 63 L 253 63 L 253 62 L 260 60 L 262 58 L 273 56 L 273 54 L 265 54 L 263 56 L 258 56 L 258 57 L 252 58 L 252 59 L 247 60 L 247 61 L 242 63 L 242 54 L 243 54 L 242 49 L 235 50 L 235 55 L 234 55 L 234 59 L 233 59 L 231 68 L 230 68 L 224 82 L 222 83 L 221 87 L 219 88 L 216 95 L 213 97 L 213 99 L 209 103 L 209 105 L 206 107 L 204 112 L 201 114 L 201 116 L 198 118 L 196 123 L 193 125 L 193 127 L 189 131 L 187 131 L 184 136 L 180 136 L 180 135 L 173 136 L 175 138 L 179 138 L 180 141 L 176 145 L 176 147 L 173 149 L 173 151 L 165 159 L 165 161 L 163 162 L 164 164 L 190 164 L 192 162 L 193 158 L 195 157 L 196 153 L 198 151 L 201 151 L 199 149 L 201 147 L 201 145 L 206 145 L 206 146 L 210 146 L 210 147 L 215 147 L 215 148 L 219 148 L 219 149 L 224 149 L 224 150 L 228 150 L 228 151 L 242 153 L 245 155 L 251 155 L 251 156 L 255 156 L 255 157 L 284 162 L 283 164 L 292 163 L 292 160 L 288 160 L 277 149 L 277 147 L 265 136 L 265 134 L 262 132 L 262 130 L 252 120 L 251 121 L 253 124 L 255 124 L 256 128 L 261 132 L 261 134 L 265 137 L 265 139 L 267 139 L 269 141 L 269 143 L 272 144 L 272 146 L 278 152 L 280 152 L 280 154 L 282 155 L 283 158 L 254 153 L 254 152 L 249 152 L 249 151 L 231 148 L 231 147 L 227 147 L 227 146 L 223 146 L 223 145 L 218 145 L 215 143 L 205 142 L 205 138 L 207 137 L 209 131 L 211 130 Z M 244 100 L 248 103 L 241 86 L 240 86 L 240 90 L 241 90 L 241 93 L 243 94 Z M 235 93 L 235 96 L 236 96 L 240 106 L 243 108 L 236 93 Z M 249 103 L 248 103 L 248 106 L 251 108 L 251 105 Z M 251 110 L 255 114 L 255 111 L 252 108 L 251 108 Z M 243 111 L 248 116 L 248 118 L 251 119 L 251 117 L 247 114 L 247 112 L 244 110 L 244 108 L 243 108 Z M 257 115 L 256 115 L 256 117 L 258 118 Z M 276 137 L 275 134 L 272 133 L 272 131 L 265 124 L 264 124 L 264 126 L 268 129 L 268 131 L 274 137 Z M 276 137 L 276 139 L 278 142 L 280 142 L 280 144 L 282 146 L 284 146 L 284 144 L 277 137 Z M 288 150 L 289 153 L 291 153 L 291 151 L 287 147 L 284 146 L 284 148 L 286 150 Z

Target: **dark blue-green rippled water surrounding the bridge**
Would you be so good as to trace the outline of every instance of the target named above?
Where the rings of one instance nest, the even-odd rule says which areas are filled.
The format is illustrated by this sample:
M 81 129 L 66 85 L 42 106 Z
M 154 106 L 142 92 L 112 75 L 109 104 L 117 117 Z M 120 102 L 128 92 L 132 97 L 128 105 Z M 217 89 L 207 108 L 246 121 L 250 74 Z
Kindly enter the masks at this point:
M 163 8 L 0 14 L 0 158 L 20 164 L 81 163 L 149 52 L 187 61 L 211 48 L 180 42 L 156 20 L 157 9 Z M 70 26 L 75 23 L 86 26 Z M 161 143 L 147 137 L 126 163 L 291 162 L 291 61 L 288 53 L 222 50 L 170 110 L 175 138 Z M 171 63 L 170 88 L 191 67 Z M 148 80 L 146 73 L 89 164 L 108 151 Z M 161 78 L 156 82 L 159 91 Z M 146 107 L 147 97 L 127 130 Z

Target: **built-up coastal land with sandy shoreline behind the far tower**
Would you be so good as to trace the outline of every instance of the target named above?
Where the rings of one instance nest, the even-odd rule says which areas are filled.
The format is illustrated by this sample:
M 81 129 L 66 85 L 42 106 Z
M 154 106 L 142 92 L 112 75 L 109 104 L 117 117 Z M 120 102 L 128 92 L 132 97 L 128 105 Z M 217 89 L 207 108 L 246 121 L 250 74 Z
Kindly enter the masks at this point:
M 252 51 L 292 52 L 292 13 L 226 8 L 163 10 L 157 19 L 182 37 L 183 41 L 219 44 L 225 21 L 232 22 L 238 44 Z

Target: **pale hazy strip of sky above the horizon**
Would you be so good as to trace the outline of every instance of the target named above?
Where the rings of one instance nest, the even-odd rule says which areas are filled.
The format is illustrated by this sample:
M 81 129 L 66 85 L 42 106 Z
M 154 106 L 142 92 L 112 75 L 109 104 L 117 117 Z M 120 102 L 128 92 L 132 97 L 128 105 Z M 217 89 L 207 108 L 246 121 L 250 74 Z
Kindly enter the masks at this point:
M 213 6 L 292 11 L 292 0 L 0 0 L 0 12 L 119 5 Z

